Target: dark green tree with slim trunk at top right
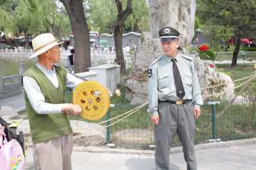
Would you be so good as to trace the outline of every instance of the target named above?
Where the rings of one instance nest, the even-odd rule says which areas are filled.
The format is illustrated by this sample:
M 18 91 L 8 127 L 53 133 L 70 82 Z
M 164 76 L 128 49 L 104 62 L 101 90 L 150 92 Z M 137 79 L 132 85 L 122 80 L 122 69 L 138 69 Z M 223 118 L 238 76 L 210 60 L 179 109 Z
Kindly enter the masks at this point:
M 230 7 L 223 10 L 228 5 L 230 5 Z M 223 27 L 229 27 L 232 31 L 235 49 L 231 67 L 236 67 L 241 39 L 251 37 L 256 33 L 256 2 L 253 0 L 198 0 L 197 7 L 198 17 L 205 22 L 209 21 L 206 22 L 205 25 L 209 23 L 211 23 L 211 25 L 223 25 Z M 216 14 L 219 15 L 216 16 Z

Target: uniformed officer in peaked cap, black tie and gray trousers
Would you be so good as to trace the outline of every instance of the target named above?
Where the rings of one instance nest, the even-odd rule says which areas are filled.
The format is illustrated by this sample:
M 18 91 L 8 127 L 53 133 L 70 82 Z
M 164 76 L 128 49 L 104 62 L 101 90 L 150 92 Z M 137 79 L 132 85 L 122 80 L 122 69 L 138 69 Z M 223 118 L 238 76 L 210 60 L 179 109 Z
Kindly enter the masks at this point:
M 179 31 L 161 27 L 163 53 L 148 69 L 148 112 L 155 125 L 156 169 L 169 169 L 169 150 L 177 133 L 187 169 L 196 169 L 195 118 L 203 99 L 192 58 L 177 53 Z

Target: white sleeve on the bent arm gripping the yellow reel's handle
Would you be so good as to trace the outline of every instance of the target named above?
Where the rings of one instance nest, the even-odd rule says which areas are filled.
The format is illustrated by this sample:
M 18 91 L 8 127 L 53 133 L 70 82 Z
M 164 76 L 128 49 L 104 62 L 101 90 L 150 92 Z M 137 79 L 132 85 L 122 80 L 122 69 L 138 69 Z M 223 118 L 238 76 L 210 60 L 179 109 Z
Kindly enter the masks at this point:
M 30 104 L 38 114 L 52 114 L 62 112 L 62 104 L 45 103 L 45 97 L 37 82 L 28 76 L 23 76 L 23 86 Z

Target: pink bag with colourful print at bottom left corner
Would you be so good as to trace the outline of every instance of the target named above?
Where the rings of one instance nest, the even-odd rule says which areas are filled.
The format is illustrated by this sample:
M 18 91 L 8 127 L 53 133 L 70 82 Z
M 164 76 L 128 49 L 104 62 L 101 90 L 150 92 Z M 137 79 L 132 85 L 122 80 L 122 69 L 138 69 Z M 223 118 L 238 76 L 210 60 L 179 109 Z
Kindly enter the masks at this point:
M 0 170 L 21 170 L 24 166 L 22 147 L 15 139 L 7 142 L 4 128 L 0 125 Z

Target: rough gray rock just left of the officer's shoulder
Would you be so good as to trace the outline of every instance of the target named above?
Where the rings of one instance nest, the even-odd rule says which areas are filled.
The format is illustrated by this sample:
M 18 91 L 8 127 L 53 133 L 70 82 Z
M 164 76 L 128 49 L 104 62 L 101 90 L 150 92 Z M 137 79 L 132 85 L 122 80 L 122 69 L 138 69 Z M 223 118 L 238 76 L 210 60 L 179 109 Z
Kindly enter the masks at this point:
M 131 101 L 131 104 L 148 101 L 147 70 L 156 56 L 162 53 L 159 39 L 142 42 L 137 46 L 132 71 L 128 77 L 121 79 L 121 84 L 127 86 L 125 98 Z

